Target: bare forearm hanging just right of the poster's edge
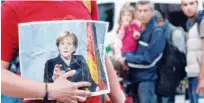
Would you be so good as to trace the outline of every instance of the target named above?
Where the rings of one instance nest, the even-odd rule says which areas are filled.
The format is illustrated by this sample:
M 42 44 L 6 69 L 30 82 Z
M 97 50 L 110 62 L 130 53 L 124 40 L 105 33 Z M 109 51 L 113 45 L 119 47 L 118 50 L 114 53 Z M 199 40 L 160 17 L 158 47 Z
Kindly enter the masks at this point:
M 105 58 L 106 68 L 107 68 L 107 74 L 109 77 L 109 83 L 110 83 L 110 99 L 112 103 L 124 103 L 125 98 L 122 90 L 120 89 L 119 80 L 117 78 L 116 72 L 113 69 L 113 66 L 111 64 L 111 61 L 109 57 L 106 55 Z

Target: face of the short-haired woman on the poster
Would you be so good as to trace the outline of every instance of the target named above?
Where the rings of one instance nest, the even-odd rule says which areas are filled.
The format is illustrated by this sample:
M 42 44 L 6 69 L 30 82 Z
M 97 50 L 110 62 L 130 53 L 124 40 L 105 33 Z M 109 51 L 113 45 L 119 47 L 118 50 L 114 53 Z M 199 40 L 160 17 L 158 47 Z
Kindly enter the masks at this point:
M 64 58 L 70 57 L 75 51 L 75 46 L 73 44 L 73 39 L 71 37 L 66 37 L 59 43 L 60 55 Z

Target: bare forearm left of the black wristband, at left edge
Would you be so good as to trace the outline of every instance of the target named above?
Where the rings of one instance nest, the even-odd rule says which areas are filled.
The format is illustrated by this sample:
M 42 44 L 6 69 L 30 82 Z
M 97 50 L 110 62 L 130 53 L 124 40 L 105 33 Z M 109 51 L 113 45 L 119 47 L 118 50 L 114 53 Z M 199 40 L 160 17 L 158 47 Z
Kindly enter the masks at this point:
M 2 94 L 20 98 L 43 98 L 45 83 L 25 80 L 14 73 L 1 69 Z

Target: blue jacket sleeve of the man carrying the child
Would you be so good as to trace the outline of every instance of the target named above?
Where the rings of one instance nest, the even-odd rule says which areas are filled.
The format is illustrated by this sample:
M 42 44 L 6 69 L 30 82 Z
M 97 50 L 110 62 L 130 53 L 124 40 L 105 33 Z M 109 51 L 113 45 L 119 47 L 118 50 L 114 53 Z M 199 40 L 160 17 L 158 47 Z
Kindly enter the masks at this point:
M 166 45 L 165 35 L 161 28 L 156 28 L 152 35 L 152 39 L 145 51 L 140 54 L 128 54 L 126 55 L 126 63 L 133 64 L 151 64 L 156 58 L 159 57 Z

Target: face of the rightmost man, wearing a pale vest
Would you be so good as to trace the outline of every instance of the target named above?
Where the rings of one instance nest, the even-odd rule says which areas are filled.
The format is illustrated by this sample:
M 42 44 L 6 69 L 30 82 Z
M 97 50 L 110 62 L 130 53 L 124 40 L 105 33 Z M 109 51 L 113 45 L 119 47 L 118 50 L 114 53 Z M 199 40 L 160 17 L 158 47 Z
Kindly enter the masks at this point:
M 197 0 L 182 0 L 181 8 L 186 16 L 192 18 L 198 11 Z

